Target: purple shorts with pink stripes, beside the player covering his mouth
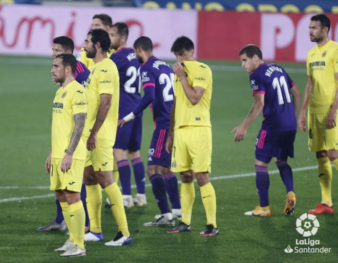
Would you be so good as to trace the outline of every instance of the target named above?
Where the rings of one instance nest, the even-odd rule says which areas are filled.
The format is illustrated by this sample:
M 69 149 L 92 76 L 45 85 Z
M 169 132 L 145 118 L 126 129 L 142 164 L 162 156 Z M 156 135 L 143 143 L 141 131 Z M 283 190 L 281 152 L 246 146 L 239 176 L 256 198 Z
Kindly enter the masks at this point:
M 165 141 L 169 128 L 157 127 L 153 133 L 152 142 L 148 151 L 148 165 L 170 167 L 172 155 L 165 151 Z

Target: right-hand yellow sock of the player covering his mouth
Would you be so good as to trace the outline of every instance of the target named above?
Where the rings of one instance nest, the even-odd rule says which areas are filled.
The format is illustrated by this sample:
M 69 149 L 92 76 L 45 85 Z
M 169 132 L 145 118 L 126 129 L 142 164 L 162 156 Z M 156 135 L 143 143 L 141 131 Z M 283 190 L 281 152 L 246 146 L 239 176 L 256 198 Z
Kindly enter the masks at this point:
M 213 185 L 208 182 L 207 184 L 200 187 L 201 197 L 206 213 L 206 224 L 213 225 L 217 228 L 216 225 L 216 194 Z

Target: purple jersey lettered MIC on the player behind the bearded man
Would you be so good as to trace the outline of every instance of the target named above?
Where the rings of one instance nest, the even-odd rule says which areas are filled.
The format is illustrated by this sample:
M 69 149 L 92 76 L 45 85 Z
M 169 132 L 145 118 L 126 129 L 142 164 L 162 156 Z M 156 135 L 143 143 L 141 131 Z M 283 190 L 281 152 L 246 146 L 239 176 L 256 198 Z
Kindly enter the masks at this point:
M 140 102 L 140 86 L 138 70 L 141 66 L 135 52 L 129 47 L 123 47 L 110 57 L 117 66 L 120 76 L 119 118 L 130 113 Z

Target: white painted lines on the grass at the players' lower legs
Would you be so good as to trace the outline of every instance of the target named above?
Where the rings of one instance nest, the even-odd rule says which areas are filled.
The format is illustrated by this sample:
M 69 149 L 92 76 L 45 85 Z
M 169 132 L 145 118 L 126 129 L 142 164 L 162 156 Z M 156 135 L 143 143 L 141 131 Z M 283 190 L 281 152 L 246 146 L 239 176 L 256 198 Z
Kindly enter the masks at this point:
M 300 168 L 294 168 L 294 169 L 292 169 L 292 171 L 293 172 L 309 171 L 309 170 L 315 170 L 317 168 L 318 168 L 318 166 L 305 166 L 305 167 L 300 167 Z M 269 174 L 270 175 L 279 174 L 279 170 L 269 171 Z M 250 177 L 250 176 L 255 176 L 255 175 L 256 175 L 256 173 L 215 176 L 215 177 L 210 177 L 210 181 Z M 196 179 L 194 181 L 196 182 Z M 181 181 L 179 181 L 178 183 L 180 184 Z M 151 186 L 151 184 L 149 183 L 149 184 L 146 184 L 145 186 L 149 187 L 149 186 Z M 0 186 L 0 189 L 23 189 L 23 188 L 49 189 L 49 186 Z M 136 188 L 136 185 L 132 185 L 132 188 Z M 45 197 L 53 197 L 53 196 L 55 196 L 55 195 L 54 194 L 48 194 L 48 195 L 41 195 L 41 196 L 5 198 L 5 199 L 0 199 L 0 203 L 7 203 L 7 202 L 12 202 L 12 201 L 21 201 L 21 200 L 28 200 L 28 199 L 45 198 Z

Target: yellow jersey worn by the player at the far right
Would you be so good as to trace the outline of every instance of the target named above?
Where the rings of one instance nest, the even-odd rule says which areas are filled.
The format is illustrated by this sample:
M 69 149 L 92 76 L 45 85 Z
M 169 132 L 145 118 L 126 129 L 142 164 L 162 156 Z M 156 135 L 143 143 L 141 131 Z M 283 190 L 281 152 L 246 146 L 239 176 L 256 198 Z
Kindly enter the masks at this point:
M 307 53 L 306 69 L 313 81 L 310 114 L 328 113 L 338 86 L 335 76 L 338 72 L 338 43 L 329 40 L 323 46 L 312 47 Z

